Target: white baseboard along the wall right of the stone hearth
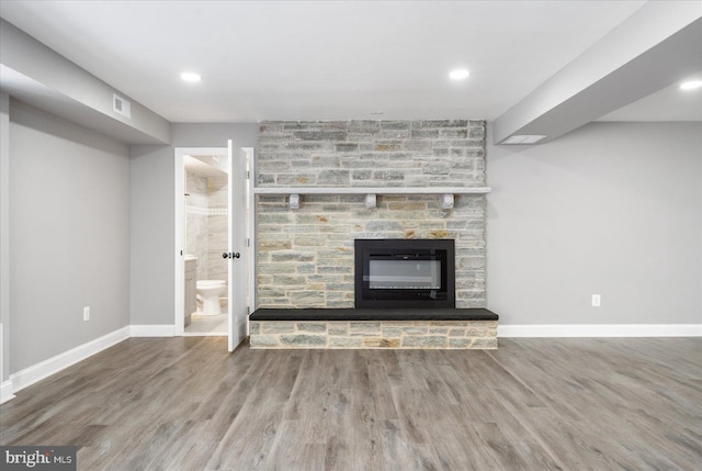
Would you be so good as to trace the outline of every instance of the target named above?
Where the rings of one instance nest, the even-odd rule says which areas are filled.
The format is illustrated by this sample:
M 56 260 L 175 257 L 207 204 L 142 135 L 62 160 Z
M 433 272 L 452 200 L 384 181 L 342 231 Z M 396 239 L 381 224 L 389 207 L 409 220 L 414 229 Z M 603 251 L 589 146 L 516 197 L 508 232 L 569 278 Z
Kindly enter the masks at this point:
M 498 337 L 701 337 L 702 324 L 499 324 Z

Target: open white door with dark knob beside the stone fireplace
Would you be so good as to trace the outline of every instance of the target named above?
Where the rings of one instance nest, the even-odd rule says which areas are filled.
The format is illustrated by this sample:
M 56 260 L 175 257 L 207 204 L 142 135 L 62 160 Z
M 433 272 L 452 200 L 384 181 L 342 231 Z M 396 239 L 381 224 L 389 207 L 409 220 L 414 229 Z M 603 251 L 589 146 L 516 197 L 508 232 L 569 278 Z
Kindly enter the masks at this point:
M 246 337 L 247 322 L 247 153 L 229 141 L 229 351 Z M 224 256 L 225 254 L 223 254 Z

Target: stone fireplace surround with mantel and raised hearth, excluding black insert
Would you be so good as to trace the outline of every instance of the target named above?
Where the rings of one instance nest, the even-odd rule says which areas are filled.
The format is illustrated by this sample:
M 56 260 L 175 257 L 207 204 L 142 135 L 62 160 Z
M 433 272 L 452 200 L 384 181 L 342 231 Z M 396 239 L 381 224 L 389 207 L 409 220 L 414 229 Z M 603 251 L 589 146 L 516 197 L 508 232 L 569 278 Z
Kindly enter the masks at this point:
M 252 348 L 497 347 L 484 121 L 263 122 L 254 180 Z M 456 309 L 354 309 L 355 239 L 453 240 Z

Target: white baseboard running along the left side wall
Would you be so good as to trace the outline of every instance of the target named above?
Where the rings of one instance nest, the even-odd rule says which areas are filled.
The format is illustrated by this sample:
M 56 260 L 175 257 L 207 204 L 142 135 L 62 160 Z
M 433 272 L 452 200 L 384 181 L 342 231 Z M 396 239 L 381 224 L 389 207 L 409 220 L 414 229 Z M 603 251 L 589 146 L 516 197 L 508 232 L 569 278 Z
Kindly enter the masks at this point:
M 114 330 L 107 335 L 103 335 L 94 340 L 90 340 L 87 344 L 79 345 L 76 348 L 71 348 L 70 350 L 64 351 L 63 354 L 18 371 L 14 374 L 10 374 L 10 382 L 12 383 L 12 391 L 10 393 L 13 394 L 29 385 L 42 381 L 43 379 L 48 378 L 71 365 L 126 340 L 127 338 L 129 338 L 128 326 Z

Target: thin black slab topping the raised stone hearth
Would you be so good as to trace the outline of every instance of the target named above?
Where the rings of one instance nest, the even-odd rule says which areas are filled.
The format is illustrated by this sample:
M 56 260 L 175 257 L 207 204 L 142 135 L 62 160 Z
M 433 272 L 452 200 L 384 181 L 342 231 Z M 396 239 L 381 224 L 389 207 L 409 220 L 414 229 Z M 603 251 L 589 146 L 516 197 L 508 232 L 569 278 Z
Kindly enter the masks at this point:
M 498 315 L 484 309 L 260 309 L 249 321 L 497 321 Z

